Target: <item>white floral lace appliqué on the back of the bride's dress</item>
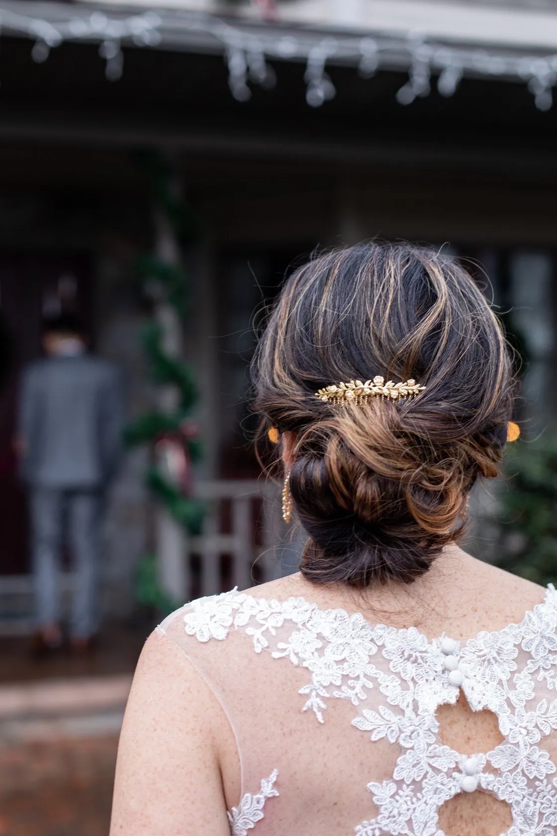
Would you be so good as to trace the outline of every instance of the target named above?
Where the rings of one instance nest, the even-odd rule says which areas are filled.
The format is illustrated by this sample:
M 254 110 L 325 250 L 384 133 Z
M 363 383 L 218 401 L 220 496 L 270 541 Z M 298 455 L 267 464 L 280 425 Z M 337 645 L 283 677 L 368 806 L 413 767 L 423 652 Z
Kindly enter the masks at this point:
M 379 813 L 357 825 L 357 836 L 443 836 L 439 808 L 477 788 L 509 803 L 513 825 L 504 836 L 553 836 L 557 767 L 543 747 L 544 737 L 557 730 L 552 585 L 520 624 L 481 632 L 462 646 L 444 636 L 429 641 L 416 628 L 373 626 L 361 614 L 320 610 L 302 598 L 254 599 L 236 590 L 195 601 L 184 621 L 200 641 L 224 640 L 231 627 L 242 630 L 256 653 L 268 650 L 308 671 L 302 711 L 322 723 L 328 699 L 350 701 L 353 726 L 402 749 L 392 779 L 367 785 Z M 492 752 L 456 752 L 438 739 L 436 711 L 454 704 L 461 687 L 473 711 L 487 708 L 498 716 L 504 742 Z M 384 697 L 377 711 L 367 707 L 372 689 Z M 266 798 L 278 794 L 275 778 L 276 772 L 261 782 L 260 794 L 244 796 L 232 811 L 233 834 L 244 836 L 263 817 Z

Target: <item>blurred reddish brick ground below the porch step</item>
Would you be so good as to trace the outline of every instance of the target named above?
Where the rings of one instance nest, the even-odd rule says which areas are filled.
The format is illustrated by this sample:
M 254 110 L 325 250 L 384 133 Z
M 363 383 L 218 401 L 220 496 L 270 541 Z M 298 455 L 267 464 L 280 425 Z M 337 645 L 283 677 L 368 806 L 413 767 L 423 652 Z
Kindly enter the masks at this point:
M 0 836 L 108 836 L 117 737 L 0 749 Z

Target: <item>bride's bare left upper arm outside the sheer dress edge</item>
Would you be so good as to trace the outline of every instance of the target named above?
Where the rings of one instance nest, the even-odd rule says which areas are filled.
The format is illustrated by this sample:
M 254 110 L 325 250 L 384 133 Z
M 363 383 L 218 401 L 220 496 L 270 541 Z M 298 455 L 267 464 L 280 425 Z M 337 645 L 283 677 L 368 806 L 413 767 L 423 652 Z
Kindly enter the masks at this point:
M 154 632 L 134 675 L 119 741 L 110 836 L 230 833 L 219 706 L 178 647 Z

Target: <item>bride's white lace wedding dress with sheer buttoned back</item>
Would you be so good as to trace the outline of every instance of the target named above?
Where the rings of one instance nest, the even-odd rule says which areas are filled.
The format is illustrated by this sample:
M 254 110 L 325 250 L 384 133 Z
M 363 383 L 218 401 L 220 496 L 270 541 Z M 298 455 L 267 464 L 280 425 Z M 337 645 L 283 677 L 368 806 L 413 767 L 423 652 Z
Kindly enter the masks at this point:
M 187 604 L 159 630 L 195 665 L 235 734 L 233 836 L 444 836 L 443 803 L 476 792 L 509 805 L 505 836 L 554 836 L 552 586 L 520 624 L 463 642 L 236 590 Z M 503 742 L 489 752 L 440 740 L 438 708 L 461 689 L 473 711 L 498 718 Z

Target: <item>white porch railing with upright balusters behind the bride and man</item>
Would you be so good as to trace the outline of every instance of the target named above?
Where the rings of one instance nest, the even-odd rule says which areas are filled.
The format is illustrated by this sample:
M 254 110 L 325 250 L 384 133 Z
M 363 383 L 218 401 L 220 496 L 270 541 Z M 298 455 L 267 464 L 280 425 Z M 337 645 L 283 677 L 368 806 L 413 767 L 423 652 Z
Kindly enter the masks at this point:
M 246 589 L 296 570 L 301 538 L 291 538 L 281 517 L 280 488 L 261 480 L 198 482 L 195 495 L 205 503 L 199 537 L 184 537 L 185 589 L 176 600 L 212 595 L 237 586 Z M 63 594 L 73 589 L 73 573 L 63 573 Z M 104 579 L 105 588 L 110 584 Z M 0 635 L 33 630 L 31 575 L 0 576 Z

